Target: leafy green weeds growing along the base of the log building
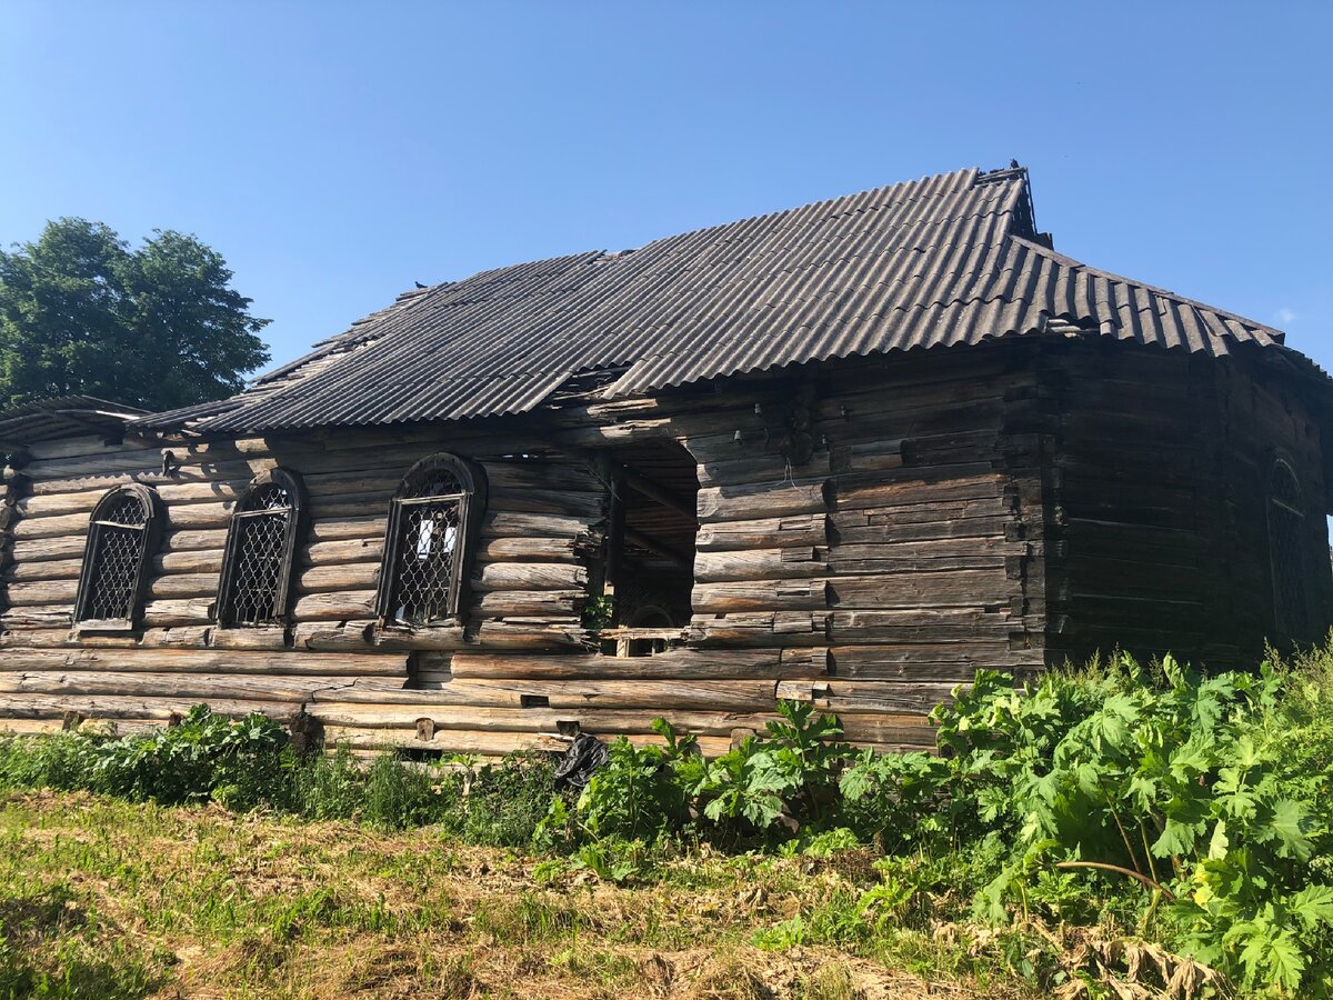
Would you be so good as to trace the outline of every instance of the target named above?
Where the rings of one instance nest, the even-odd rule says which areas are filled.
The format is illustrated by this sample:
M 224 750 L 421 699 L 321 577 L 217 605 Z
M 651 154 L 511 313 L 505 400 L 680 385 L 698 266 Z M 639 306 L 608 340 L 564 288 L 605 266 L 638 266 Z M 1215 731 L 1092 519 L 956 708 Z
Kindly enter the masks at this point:
M 559 795 L 537 757 L 303 761 L 268 720 L 199 708 L 148 736 L 3 741 L 0 783 L 533 848 L 544 860 L 509 903 L 584 879 L 660 895 L 705 879 L 713 857 L 737 859 L 728 877 L 750 903 L 784 857 L 782 871 L 838 871 L 794 905 L 750 907 L 745 945 L 770 955 L 833 948 L 1068 1000 L 1333 993 L 1333 652 L 1214 676 L 1121 657 L 1017 688 L 982 672 L 934 723 L 938 753 L 877 755 L 784 704 L 716 760 L 659 723 L 659 745 L 617 740 L 581 793 Z M 475 924 L 497 925 L 496 905 Z M 580 909 L 505 920 L 525 940 L 596 933 Z M 0 976 L 35 981 L 13 959 L 27 952 L 4 947 Z M 152 965 L 139 961 L 131 988 Z

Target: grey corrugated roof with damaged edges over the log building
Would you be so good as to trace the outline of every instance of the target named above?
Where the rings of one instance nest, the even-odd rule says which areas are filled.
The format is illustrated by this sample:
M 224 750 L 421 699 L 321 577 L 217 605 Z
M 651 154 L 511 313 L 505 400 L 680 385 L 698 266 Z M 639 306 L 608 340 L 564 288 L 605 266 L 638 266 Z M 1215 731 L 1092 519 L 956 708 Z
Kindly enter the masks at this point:
M 1065 319 L 1209 355 L 1282 335 L 1042 245 L 1026 171 L 976 169 L 600 252 L 485 271 L 389 308 L 221 403 L 145 428 L 247 432 L 520 413 L 580 372 L 608 396 Z M 1292 352 L 1294 355 L 1294 352 Z

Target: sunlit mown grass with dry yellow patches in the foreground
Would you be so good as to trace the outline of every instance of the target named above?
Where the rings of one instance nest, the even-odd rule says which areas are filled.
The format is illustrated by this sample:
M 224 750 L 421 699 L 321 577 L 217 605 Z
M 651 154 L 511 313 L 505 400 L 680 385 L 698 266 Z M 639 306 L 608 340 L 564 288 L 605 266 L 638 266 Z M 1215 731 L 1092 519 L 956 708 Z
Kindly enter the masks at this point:
M 0 997 L 1034 995 L 953 928 L 866 933 L 857 851 L 613 884 L 433 828 L 47 792 L 0 793 Z

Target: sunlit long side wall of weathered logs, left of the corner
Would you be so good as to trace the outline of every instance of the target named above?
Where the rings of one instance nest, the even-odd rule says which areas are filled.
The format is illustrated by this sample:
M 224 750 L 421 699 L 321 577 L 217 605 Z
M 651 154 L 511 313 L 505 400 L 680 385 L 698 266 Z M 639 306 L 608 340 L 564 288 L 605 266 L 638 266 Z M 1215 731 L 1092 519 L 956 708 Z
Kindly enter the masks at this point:
M 720 751 L 790 697 L 838 713 L 857 743 L 928 745 L 924 713 L 953 684 L 1041 663 L 1040 503 L 1014 485 L 1036 465 L 1018 427 L 1033 387 L 1021 352 L 982 349 L 573 399 L 489 432 L 40 444 L 7 471 L 0 719 L 141 725 L 208 701 L 304 712 L 353 748 L 488 756 L 559 747 L 573 727 L 649 739 L 664 715 Z M 603 656 L 581 625 L 607 527 L 597 456 L 655 436 L 698 464 L 693 619 L 678 648 Z M 377 628 L 389 497 L 435 451 L 472 457 L 489 483 L 469 608 L 456 627 Z M 309 496 L 292 621 L 219 628 L 232 507 L 279 464 Z M 129 481 L 152 485 L 168 520 L 143 628 L 79 635 L 88 515 Z

